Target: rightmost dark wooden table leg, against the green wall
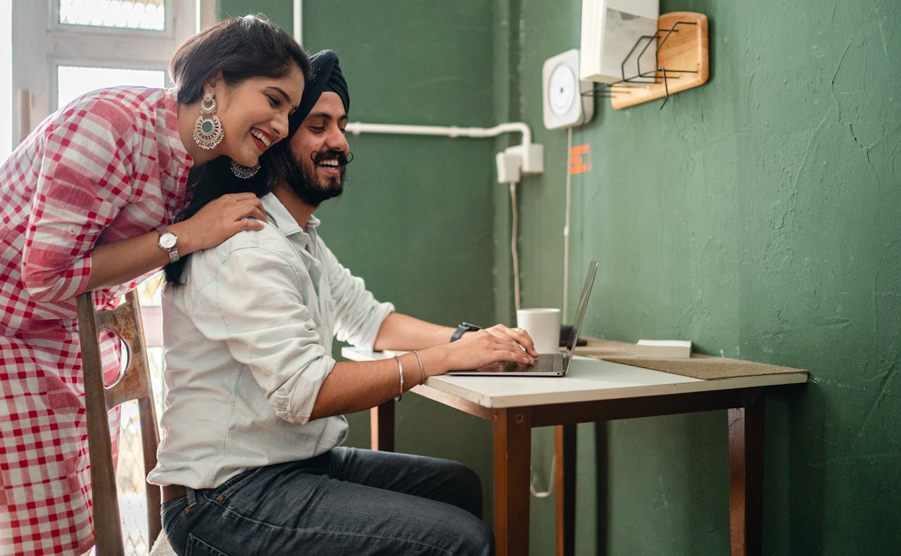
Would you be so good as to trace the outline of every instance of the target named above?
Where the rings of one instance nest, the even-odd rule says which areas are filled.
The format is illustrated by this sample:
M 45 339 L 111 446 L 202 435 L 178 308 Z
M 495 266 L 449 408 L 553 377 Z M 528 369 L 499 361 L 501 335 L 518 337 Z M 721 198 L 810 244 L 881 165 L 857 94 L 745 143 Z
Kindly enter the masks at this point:
M 733 556 L 758 556 L 763 539 L 762 388 L 729 410 L 729 529 Z

